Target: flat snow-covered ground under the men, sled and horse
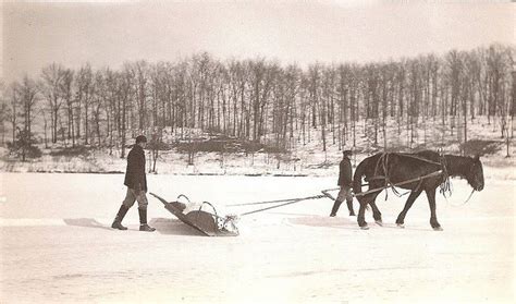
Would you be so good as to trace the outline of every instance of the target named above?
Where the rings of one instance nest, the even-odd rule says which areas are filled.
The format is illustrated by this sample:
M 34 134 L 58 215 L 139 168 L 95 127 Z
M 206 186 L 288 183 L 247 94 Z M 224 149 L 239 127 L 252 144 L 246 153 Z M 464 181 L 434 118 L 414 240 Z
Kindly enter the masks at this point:
M 484 168 L 489 177 L 489 168 Z M 507 170 L 513 170 L 508 168 Z M 133 207 L 109 227 L 123 199 L 122 174 L 0 173 L 1 303 L 514 303 L 515 181 L 470 187 L 454 180 L 438 196 L 444 231 L 429 224 L 421 196 L 405 229 L 406 197 L 378 205 L 385 227 L 358 229 L 345 204 L 311 199 L 243 217 L 236 238 L 199 236 L 149 196 L 155 233 L 137 231 Z M 225 204 L 304 197 L 335 178 L 148 175 L 149 191 Z M 355 203 L 356 204 L 356 203 Z M 357 206 L 355 205 L 355 208 Z

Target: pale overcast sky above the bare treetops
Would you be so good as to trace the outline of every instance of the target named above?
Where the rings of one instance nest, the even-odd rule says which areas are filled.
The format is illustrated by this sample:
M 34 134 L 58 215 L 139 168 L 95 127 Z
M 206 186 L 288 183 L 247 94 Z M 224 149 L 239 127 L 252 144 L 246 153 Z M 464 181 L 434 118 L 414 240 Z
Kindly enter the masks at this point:
M 2 72 L 10 82 L 51 62 L 119 69 L 199 51 L 303 65 L 366 62 L 515 42 L 516 7 L 506 1 L 403 2 L 7 3 Z

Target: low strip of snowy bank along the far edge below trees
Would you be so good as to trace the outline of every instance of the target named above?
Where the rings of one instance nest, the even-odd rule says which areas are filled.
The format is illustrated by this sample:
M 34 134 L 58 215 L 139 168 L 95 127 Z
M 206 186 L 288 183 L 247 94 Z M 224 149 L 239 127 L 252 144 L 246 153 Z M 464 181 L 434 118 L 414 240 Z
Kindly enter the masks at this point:
M 368 155 L 354 156 L 353 162 L 358 162 Z M 173 151 L 162 153 L 157 161 L 158 174 L 194 174 L 194 175 L 297 175 L 297 177 L 336 177 L 339 174 L 340 154 L 332 157 L 307 157 L 309 160 L 281 162 L 273 156 L 255 154 L 223 155 L 199 153 L 194 165 L 187 165 L 187 156 Z M 516 180 L 516 159 L 489 156 L 481 158 L 486 180 Z M 38 161 L 1 161 L 3 172 L 67 172 L 67 173 L 124 173 L 126 160 L 118 156 L 97 153 L 89 158 L 84 157 L 52 157 L 44 156 Z M 279 167 L 279 168 L 278 168 Z M 148 171 L 151 169 L 147 159 Z

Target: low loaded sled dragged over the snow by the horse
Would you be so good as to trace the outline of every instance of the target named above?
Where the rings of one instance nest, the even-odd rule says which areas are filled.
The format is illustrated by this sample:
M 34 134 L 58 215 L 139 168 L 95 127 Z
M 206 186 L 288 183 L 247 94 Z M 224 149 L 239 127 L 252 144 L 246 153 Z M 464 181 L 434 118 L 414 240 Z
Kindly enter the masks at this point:
M 204 202 L 199 205 L 198 209 L 191 209 L 193 204 L 185 195 L 177 196 L 175 202 L 167 202 L 167 199 L 150 193 L 150 195 L 158 198 L 163 203 L 164 208 L 174 215 L 179 220 L 194 228 L 198 232 L 207 236 L 236 236 L 238 235 L 238 229 L 235 226 L 236 217 L 225 216 L 221 217 L 217 214 L 216 208 L 208 202 Z M 179 202 L 181 197 L 184 197 L 188 205 Z M 208 205 L 211 207 L 213 212 L 202 210 L 202 207 Z

